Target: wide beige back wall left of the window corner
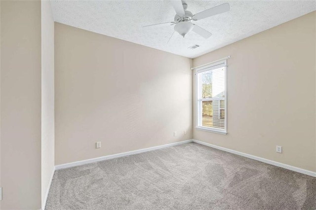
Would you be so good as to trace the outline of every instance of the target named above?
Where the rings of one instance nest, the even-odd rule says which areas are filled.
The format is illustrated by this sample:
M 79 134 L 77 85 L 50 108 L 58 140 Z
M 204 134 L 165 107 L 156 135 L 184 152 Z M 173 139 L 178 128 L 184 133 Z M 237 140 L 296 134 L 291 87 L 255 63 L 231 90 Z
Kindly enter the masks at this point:
M 191 73 L 188 58 L 55 23 L 55 164 L 192 139 Z

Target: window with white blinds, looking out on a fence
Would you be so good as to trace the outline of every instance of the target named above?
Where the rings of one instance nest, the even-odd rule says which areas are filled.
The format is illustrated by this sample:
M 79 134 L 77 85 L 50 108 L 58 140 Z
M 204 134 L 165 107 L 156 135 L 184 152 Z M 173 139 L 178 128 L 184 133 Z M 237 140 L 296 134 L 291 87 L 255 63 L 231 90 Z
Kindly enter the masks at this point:
M 226 60 L 197 69 L 197 129 L 226 134 Z

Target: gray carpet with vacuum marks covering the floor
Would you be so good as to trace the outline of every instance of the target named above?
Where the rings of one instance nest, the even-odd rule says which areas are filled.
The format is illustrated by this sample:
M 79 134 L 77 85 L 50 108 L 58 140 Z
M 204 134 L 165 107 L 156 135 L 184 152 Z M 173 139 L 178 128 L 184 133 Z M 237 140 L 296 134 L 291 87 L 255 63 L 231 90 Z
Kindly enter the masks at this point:
M 316 178 L 197 143 L 58 170 L 46 210 L 316 209 Z

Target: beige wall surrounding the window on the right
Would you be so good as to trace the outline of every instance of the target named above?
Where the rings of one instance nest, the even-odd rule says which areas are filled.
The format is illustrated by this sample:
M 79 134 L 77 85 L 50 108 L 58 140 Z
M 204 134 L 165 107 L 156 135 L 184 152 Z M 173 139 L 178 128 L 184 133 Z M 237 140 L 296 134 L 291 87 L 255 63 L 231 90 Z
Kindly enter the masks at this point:
M 315 172 L 315 24 L 313 12 L 194 59 L 232 56 L 228 134 L 194 129 L 193 138 Z

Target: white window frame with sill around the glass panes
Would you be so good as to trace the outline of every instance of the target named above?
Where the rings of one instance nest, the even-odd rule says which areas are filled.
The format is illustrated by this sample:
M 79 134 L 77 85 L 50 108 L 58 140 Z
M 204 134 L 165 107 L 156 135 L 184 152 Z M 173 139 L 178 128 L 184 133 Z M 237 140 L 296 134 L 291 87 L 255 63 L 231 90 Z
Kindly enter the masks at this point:
M 201 111 L 202 111 L 202 101 L 213 101 L 213 99 L 201 99 L 200 96 L 200 87 L 199 87 L 199 81 L 198 81 L 198 77 L 199 77 L 199 73 L 205 72 L 205 71 L 209 71 L 209 70 L 216 70 L 219 68 L 224 68 L 225 71 L 225 97 L 224 98 L 218 98 L 219 101 L 219 109 L 220 109 L 220 100 L 224 100 L 224 104 L 225 104 L 225 119 L 224 119 L 224 129 L 220 129 L 220 128 L 211 128 L 211 127 L 206 127 L 206 126 L 202 126 L 201 124 Z M 218 133 L 218 134 L 227 134 L 227 60 L 223 60 L 223 61 L 219 61 L 216 63 L 212 63 L 210 65 L 207 66 L 203 66 L 201 68 L 197 68 L 196 69 L 196 99 L 195 99 L 195 103 L 196 103 L 196 129 L 197 130 L 202 130 L 202 131 L 207 131 L 207 132 L 213 132 L 213 133 Z M 219 114 L 220 117 L 220 114 Z

